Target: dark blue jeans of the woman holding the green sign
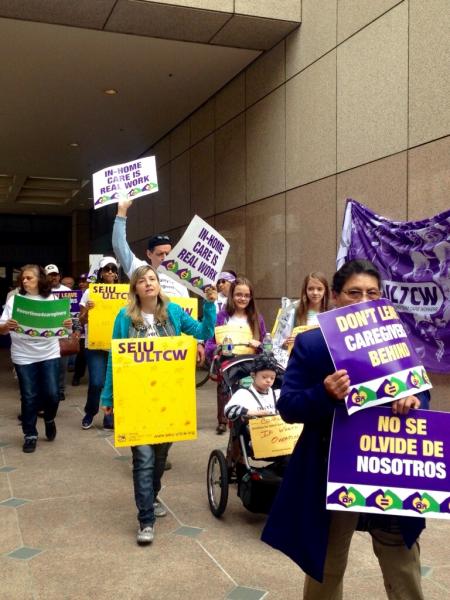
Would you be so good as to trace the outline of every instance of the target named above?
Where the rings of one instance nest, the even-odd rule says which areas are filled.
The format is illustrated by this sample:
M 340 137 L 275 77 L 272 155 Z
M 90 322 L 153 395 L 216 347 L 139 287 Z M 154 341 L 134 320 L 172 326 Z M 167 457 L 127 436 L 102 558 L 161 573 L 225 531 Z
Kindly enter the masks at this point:
M 30 365 L 14 365 L 22 403 L 22 431 L 37 437 L 37 412 L 44 410 L 45 421 L 53 421 L 59 406 L 59 358 Z

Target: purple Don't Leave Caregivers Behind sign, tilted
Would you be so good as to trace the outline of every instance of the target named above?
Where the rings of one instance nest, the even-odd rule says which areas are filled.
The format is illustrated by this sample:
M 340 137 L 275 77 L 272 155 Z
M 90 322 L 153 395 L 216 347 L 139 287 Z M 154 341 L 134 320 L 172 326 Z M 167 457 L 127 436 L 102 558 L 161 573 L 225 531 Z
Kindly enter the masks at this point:
M 350 377 L 349 414 L 432 387 L 389 300 L 351 304 L 318 320 L 336 370 Z

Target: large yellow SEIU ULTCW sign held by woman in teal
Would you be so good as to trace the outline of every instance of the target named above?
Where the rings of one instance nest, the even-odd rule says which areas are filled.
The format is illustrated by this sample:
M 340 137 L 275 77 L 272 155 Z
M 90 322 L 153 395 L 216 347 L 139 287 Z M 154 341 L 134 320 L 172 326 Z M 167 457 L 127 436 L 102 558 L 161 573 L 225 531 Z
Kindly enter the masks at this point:
M 197 437 L 196 349 L 191 336 L 112 340 L 116 446 Z

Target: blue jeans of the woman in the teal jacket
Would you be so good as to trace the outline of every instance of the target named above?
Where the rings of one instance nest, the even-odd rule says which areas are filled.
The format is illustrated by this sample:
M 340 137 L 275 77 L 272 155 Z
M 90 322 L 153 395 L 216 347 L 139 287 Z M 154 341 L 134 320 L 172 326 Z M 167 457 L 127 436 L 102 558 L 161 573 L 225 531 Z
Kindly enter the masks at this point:
M 141 527 L 153 525 L 153 502 L 161 489 L 167 453 L 171 444 L 146 444 L 131 446 L 133 454 L 134 500 Z

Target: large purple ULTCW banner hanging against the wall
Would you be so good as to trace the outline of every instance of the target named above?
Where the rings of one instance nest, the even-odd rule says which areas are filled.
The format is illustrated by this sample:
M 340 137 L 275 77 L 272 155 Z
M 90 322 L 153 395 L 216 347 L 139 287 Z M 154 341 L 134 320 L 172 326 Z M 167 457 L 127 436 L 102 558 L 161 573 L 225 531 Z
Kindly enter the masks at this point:
M 366 258 L 405 325 L 422 363 L 450 372 L 450 210 L 431 219 L 392 222 L 347 201 L 338 268 Z

